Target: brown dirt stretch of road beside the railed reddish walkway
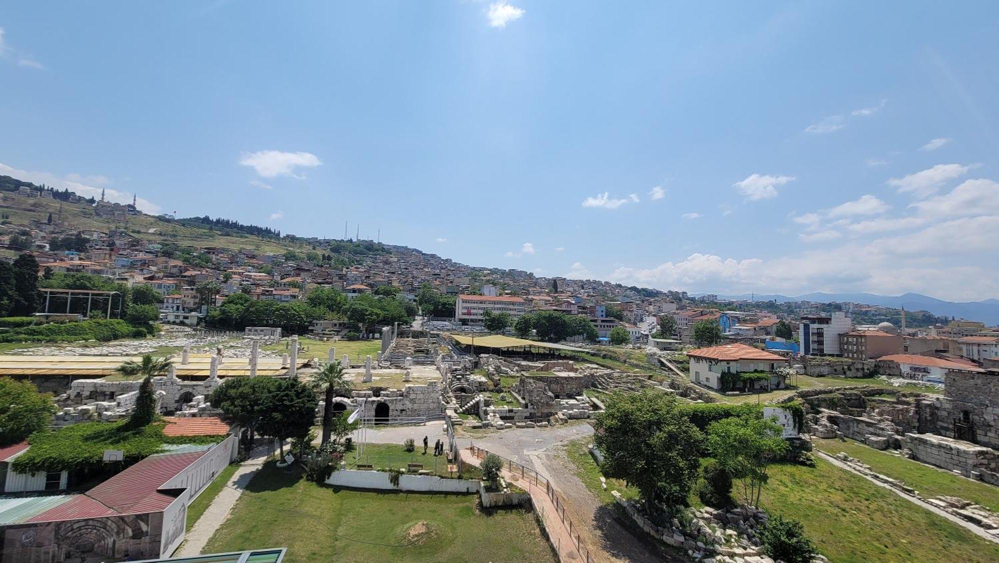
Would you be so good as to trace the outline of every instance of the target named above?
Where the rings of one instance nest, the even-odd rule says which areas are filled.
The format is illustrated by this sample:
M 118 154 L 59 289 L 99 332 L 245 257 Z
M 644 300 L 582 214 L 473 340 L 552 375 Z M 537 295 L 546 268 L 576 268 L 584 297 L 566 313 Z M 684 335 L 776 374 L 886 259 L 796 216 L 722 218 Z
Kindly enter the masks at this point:
M 618 521 L 613 506 L 604 505 L 575 476 L 575 467 L 562 446 L 528 454 L 537 471 L 558 490 L 565 510 L 573 522 L 583 545 L 590 550 L 591 560 L 603 562 L 680 562 L 677 555 L 665 551 L 649 538 L 632 533 Z

